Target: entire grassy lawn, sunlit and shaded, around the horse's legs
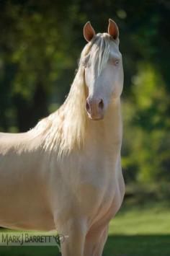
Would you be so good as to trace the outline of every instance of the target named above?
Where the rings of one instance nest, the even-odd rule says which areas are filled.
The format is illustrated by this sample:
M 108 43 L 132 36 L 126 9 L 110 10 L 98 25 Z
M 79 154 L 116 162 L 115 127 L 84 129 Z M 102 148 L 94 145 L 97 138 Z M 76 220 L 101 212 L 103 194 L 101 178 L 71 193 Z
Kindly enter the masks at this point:
M 1 256 L 58 256 L 56 247 L 0 247 Z M 109 227 L 103 256 L 169 256 L 170 208 L 166 203 L 124 203 Z M 90 255 L 89 255 L 90 256 Z

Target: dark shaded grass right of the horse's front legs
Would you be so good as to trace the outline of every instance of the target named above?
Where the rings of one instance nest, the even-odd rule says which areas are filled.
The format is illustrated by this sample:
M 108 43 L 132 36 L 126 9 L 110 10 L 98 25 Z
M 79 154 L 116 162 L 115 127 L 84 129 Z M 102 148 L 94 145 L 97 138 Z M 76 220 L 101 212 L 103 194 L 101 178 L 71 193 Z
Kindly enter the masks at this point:
M 169 235 L 109 236 L 103 256 L 169 256 Z

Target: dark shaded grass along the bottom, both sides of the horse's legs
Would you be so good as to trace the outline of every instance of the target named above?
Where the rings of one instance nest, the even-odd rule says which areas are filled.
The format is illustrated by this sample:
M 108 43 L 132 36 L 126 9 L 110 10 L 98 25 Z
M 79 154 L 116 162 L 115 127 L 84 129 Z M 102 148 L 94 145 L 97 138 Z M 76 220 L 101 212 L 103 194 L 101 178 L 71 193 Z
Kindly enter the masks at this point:
M 59 256 L 60 254 L 58 247 L 0 247 L 0 255 Z M 103 256 L 153 255 L 170 255 L 170 235 L 109 236 L 103 252 Z

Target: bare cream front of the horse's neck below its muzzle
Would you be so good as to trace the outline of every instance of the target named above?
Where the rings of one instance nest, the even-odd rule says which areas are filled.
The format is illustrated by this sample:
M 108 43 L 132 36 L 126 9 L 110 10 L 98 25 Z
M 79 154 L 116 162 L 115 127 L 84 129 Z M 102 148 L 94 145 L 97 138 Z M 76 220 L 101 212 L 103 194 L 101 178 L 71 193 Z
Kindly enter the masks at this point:
M 87 131 L 87 143 L 111 152 L 115 148 L 120 150 L 122 143 L 120 99 L 112 101 L 103 120 L 89 120 Z

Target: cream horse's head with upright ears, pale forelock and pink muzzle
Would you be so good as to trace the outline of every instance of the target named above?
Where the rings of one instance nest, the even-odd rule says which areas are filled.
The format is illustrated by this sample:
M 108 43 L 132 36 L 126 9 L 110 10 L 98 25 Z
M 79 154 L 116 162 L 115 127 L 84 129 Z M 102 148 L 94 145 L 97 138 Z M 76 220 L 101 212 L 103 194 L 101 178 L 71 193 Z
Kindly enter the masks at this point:
M 90 22 L 84 26 L 89 43 L 84 48 L 81 63 L 88 97 L 86 112 L 91 120 L 104 118 L 109 103 L 120 97 L 123 86 L 122 55 L 119 50 L 119 30 L 109 19 L 108 33 L 95 34 Z

